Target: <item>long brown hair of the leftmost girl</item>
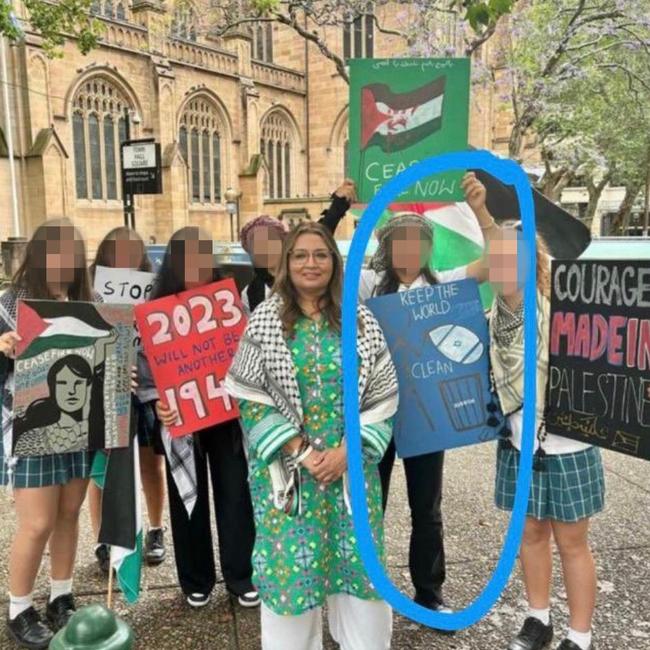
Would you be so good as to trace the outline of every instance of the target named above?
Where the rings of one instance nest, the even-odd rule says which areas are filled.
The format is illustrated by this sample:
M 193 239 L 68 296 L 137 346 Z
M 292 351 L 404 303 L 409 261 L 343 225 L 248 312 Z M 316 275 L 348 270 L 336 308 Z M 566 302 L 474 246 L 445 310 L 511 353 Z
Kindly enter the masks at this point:
M 63 235 L 66 235 L 65 237 Z M 92 300 L 90 280 L 86 263 L 86 244 L 79 230 L 69 219 L 51 219 L 42 223 L 32 235 L 25 249 L 25 257 L 18 267 L 12 284 L 24 289 L 30 298 L 53 300 L 47 286 L 47 251 L 54 242 L 74 240 L 74 279 L 68 287 L 70 300 Z

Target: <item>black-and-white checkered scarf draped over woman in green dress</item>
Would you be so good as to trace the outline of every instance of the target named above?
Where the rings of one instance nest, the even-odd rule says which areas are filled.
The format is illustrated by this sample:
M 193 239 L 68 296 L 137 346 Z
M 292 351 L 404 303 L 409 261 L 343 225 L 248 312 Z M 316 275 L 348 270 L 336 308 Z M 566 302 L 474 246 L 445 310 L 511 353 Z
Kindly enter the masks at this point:
M 281 300 L 272 296 L 253 313 L 225 385 L 233 397 L 273 406 L 304 436 L 296 367 L 280 320 Z M 358 315 L 360 418 L 361 424 L 375 424 L 397 409 L 397 375 L 374 316 L 363 306 Z M 299 477 L 290 478 L 295 470 L 287 467 L 282 457 L 270 464 L 274 500 L 280 508 L 294 501 L 294 491 L 300 485 Z

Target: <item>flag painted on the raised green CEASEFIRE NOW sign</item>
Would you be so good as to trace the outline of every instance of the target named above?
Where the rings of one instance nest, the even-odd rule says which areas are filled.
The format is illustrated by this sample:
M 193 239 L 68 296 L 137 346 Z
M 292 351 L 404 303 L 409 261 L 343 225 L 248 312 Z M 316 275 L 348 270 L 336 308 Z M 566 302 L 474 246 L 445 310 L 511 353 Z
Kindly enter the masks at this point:
M 394 93 L 382 83 L 361 91 L 361 151 L 376 145 L 385 153 L 422 141 L 442 125 L 446 77 L 415 90 Z

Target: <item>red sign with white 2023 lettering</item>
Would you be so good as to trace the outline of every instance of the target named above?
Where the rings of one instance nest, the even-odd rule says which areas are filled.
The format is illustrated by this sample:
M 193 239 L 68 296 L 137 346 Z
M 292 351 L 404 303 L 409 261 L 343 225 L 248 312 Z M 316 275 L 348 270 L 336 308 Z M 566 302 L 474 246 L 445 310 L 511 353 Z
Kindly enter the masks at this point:
M 232 279 L 138 305 L 135 317 L 161 401 L 183 436 L 239 417 L 223 387 L 246 317 Z

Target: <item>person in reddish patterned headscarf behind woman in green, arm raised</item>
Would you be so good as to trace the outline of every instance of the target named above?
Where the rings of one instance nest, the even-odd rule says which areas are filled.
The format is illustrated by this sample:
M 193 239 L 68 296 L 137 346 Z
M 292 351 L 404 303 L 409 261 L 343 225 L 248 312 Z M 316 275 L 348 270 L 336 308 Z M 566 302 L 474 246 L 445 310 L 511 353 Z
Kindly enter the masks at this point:
M 323 211 L 319 223 L 334 234 L 341 219 L 355 200 L 355 184 L 346 178 L 332 194 L 332 203 L 327 210 Z M 266 215 L 249 221 L 242 228 L 241 245 L 253 262 L 253 279 L 244 288 L 241 296 L 249 314 L 271 295 L 274 269 L 280 261 L 282 241 L 286 235 L 285 225 L 278 219 Z

